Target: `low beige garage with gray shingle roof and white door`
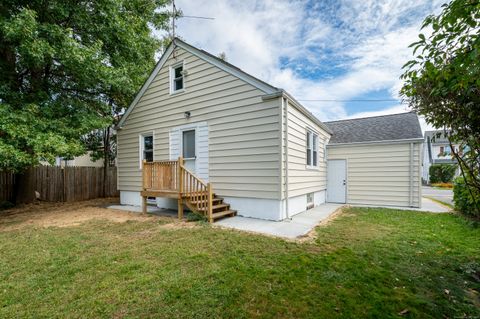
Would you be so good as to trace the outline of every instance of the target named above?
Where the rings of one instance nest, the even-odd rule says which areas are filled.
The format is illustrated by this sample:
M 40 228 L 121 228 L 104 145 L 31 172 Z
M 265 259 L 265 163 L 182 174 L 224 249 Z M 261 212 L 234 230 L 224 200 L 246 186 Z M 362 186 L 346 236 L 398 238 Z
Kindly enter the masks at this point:
M 333 131 L 328 201 L 420 207 L 423 135 L 415 113 L 325 124 Z

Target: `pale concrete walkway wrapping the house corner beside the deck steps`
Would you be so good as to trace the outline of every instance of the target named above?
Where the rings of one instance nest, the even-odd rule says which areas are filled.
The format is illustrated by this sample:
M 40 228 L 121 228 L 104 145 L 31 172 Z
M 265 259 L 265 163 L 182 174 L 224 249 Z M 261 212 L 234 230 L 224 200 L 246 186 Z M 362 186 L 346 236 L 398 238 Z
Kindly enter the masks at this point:
M 308 234 L 319 222 L 327 219 L 342 206 L 341 204 L 323 204 L 297 214 L 290 220 L 278 222 L 235 216 L 219 220 L 215 225 L 294 239 Z

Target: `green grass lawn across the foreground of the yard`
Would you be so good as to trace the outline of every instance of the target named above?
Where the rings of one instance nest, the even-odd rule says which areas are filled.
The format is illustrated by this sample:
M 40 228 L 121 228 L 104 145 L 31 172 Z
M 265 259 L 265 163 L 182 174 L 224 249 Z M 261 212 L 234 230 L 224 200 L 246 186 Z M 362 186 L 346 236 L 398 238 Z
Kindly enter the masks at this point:
M 480 229 L 461 217 L 352 208 L 317 232 L 0 230 L 0 317 L 479 318 Z

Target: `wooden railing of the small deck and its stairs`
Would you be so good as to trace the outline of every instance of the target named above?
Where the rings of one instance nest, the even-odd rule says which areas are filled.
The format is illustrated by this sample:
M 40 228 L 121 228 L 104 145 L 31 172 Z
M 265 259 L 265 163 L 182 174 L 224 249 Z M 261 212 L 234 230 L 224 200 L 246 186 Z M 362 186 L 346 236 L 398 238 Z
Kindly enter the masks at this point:
M 177 161 L 143 162 L 143 189 L 151 192 L 177 192 L 179 216 L 183 215 L 183 200 L 190 208 L 204 214 L 210 222 L 212 218 L 213 191 L 210 183 L 205 183 L 190 172 L 182 157 Z

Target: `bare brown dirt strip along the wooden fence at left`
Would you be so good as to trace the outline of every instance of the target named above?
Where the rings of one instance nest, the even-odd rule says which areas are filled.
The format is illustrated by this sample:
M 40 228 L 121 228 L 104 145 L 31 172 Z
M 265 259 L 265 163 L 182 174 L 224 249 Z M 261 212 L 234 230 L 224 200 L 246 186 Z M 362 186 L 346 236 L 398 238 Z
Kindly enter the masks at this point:
M 167 217 L 144 215 L 108 209 L 118 204 L 116 198 L 96 199 L 73 203 L 34 203 L 0 211 L 0 231 L 15 230 L 27 226 L 70 227 L 90 220 L 108 220 L 115 223 L 126 221 L 156 221 Z M 169 220 L 174 220 L 169 218 Z

